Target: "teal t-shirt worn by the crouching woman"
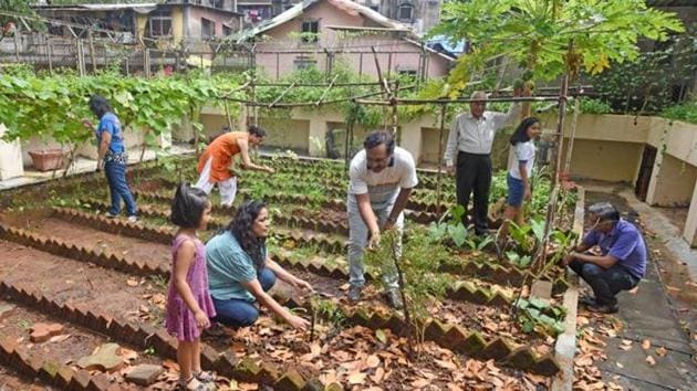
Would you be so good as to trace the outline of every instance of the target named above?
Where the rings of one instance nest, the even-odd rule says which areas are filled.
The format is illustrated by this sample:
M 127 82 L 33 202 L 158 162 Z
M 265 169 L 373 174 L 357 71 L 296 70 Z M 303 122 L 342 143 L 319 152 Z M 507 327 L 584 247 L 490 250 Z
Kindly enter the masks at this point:
M 267 257 L 266 249 L 262 256 Z M 242 286 L 242 283 L 257 279 L 254 262 L 229 231 L 208 241 L 206 265 L 208 288 L 212 297 L 219 300 L 236 298 L 256 302 L 254 296 Z

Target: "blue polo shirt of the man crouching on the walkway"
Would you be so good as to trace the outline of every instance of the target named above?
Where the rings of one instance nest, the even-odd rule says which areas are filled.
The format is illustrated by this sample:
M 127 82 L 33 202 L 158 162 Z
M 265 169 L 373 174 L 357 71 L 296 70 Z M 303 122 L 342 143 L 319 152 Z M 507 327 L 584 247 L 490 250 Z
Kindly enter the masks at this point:
M 646 243 L 636 226 L 628 221 L 620 220 L 607 234 L 593 230 L 585 235 L 583 243 L 600 246 L 603 255 L 617 258 L 618 264 L 637 278 L 646 274 Z

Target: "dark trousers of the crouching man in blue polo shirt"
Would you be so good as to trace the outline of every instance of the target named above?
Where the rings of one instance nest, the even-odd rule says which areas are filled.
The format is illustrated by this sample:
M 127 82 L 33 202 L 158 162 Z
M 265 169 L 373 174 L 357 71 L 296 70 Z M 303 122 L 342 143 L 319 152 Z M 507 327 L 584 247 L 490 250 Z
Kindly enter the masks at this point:
M 573 260 L 569 263 L 569 267 L 593 288 L 595 303 L 600 305 L 616 305 L 615 295 L 621 290 L 634 288 L 641 279 L 618 264 L 614 264 L 611 268 L 602 268 L 592 263 Z

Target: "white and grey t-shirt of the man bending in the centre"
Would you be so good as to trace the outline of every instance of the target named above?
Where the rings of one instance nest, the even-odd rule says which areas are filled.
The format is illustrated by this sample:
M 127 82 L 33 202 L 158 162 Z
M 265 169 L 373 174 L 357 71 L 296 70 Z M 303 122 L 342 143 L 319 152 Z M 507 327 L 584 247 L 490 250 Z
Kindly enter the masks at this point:
M 355 194 L 367 193 L 374 205 L 394 202 L 399 189 L 410 189 L 418 184 L 414 158 L 399 147 L 395 147 L 389 166 L 381 172 L 368 169 L 365 149 L 361 150 L 351 160 L 348 177 L 348 201 L 354 201 Z

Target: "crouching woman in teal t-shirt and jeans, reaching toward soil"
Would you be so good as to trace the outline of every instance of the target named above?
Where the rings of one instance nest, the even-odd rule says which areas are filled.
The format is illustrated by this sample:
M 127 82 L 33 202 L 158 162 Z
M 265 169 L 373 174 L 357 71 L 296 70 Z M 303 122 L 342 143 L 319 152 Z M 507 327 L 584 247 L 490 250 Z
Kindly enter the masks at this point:
M 269 211 L 261 201 L 243 203 L 235 219 L 206 244 L 208 286 L 216 318 L 231 327 L 251 326 L 259 317 L 257 302 L 271 309 L 291 326 L 305 329 L 308 320 L 291 314 L 267 290 L 277 276 L 295 288 L 312 286 L 288 273 L 267 255 Z

